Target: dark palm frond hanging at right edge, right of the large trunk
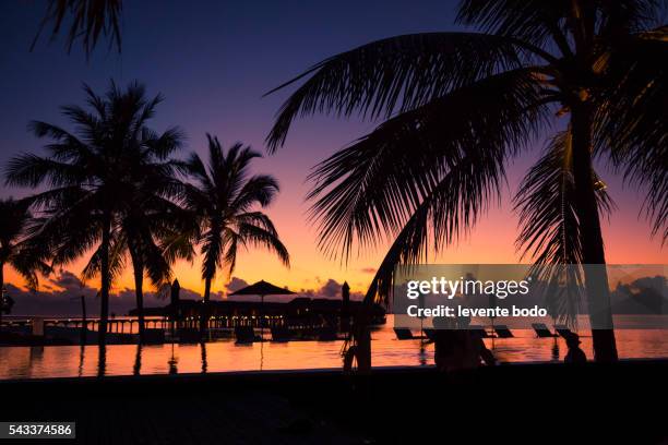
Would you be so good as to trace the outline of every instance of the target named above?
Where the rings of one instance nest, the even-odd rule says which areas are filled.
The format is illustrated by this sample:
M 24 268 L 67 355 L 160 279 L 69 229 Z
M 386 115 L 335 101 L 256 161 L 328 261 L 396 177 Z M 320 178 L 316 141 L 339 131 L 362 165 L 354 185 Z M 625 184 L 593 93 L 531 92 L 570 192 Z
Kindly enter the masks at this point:
M 653 233 L 668 241 L 668 27 L 633 36 L 609 55 L 599 92 L 597 151 L 607 151 L 628 183 L 646 191 Z

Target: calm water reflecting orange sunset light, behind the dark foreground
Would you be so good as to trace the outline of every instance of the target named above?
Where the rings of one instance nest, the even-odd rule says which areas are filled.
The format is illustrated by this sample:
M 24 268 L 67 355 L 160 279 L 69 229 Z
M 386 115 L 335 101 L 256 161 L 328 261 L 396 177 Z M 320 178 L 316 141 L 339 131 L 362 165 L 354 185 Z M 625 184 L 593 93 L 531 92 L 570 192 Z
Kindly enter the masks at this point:
M 390 318 L 372 334 L 373 365 L 433 364 L 432 345 L 399 341 L 392 327 Z M 536 338 L 533 330 L 514 334 L 515 338 L 486 339 L 501 362 L 563 360 L 566 348 L 561 338 Z M 620 329 L 617 341 L 621 358 L 668 357 L 668 330 Z M 583 337 L 582 342 L 591 358 L 592 339 Z M 232 340 L 204 346 L 111 345 L 106 348 L 104 366 L 96 346 L 11 347 L 0 348 L 0 378 L 341 368 L 342 346 L 343 341 L 236 345 Z

